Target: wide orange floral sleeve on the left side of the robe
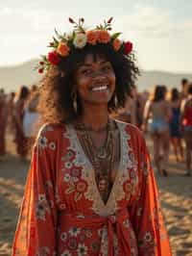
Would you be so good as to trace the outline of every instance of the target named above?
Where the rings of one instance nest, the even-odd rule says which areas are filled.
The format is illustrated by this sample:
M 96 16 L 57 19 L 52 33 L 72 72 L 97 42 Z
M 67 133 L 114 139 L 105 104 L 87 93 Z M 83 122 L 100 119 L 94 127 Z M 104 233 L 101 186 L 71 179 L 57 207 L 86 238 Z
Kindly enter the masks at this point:
M 56 147 L 53 131 L 44 127 L 33 150 L 31 167 L 12 245 L 12 256 L 56 253 Z

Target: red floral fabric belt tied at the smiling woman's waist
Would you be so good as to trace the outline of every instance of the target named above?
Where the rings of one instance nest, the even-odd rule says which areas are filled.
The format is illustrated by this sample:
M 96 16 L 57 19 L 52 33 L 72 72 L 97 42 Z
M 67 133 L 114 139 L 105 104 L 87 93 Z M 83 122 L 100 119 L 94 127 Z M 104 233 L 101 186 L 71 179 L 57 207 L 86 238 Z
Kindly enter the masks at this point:
M 125 227 L 125 221 L 129 221 L 129 213 L 127 209 L 122 210 L 121 212 L 110 215 L 108 217 L 101 217 L 98 215 L 84 215 L 80 213 L 74 212 L 60 212 L 60 224 L 61 226 L 67 223 L 71 227 L 79 227 L 79 228 L 89 228 L 91 230 L 94 229 L 103 229 L 103 234 L 105 233 L 105 229 L 107 229 L 107 237 L 102 238 L 100 251 L 102 255 L 114 256 L 114 237 L 116 235 L 117 238 L 117 246 L 118 246 L 118 256 L 128 255 L 130 251 L 130 244 L 128 243 L 128 229 Z M 103 235 L 102 235 L 103 236 Z M 104 252 L 104 244 L 108 243 L 107 249 L 108 251 Z M 106 246 L 105 246 L 106 247 Z

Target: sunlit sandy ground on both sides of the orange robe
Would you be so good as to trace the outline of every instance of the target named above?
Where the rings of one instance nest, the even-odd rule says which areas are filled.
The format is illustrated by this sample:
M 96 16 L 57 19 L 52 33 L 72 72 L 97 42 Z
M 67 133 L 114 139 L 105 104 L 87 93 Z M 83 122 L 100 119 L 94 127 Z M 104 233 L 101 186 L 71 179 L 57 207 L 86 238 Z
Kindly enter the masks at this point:
M 29 162 L 21 163 L 10 153 L 0 160 L 0 255 L 11 255 L 12 239 Z M 149 147 L 152 143 L 147 140 Z M 152 148 L 151 148 L 152 150 Z M 170 175 L 156 181 L 174 256 L 192 256 L 192 177 L 184 177 L 184 165 L 170 155 Z M 166 255 L 164 255 L 166 256 Z

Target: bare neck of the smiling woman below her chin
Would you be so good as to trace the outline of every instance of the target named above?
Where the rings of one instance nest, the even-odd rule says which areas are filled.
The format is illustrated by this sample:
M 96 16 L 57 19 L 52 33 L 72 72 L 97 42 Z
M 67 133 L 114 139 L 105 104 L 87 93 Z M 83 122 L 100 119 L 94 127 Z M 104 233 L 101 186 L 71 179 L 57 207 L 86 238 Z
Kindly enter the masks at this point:
M 80 116 L 78 121 L 92 130 L 100 130 L 108 124 L 108 106 L 84 108 L 83 115 Z

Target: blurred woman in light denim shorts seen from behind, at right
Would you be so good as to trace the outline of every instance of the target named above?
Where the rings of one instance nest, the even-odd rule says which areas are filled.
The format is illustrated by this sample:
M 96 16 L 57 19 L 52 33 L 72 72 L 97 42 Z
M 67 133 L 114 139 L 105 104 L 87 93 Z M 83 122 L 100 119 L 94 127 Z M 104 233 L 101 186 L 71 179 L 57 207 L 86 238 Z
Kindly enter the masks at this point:
M 144 110 L 144 131 L 149 129 L 151 133 L 154 142 L 156 169 L 163 176 L 168 175 L 169 119 L 171 117 L 170 106 L 165 100 L 165 95 L 166 88 L 164 86 L 156 86 L 154 96 L 152 100 L 146 103 Z

